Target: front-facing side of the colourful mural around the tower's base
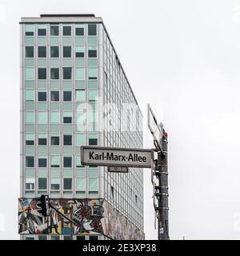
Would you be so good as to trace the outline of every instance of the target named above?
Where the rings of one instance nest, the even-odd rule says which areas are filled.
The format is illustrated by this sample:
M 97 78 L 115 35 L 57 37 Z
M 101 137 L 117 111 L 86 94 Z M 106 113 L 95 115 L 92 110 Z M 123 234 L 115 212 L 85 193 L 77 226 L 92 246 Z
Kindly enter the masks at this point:
M 103 234 L 102 199 L 49 199 L 49 214 L 42 216 L 38 198 L 18 199 L 19 234 Z

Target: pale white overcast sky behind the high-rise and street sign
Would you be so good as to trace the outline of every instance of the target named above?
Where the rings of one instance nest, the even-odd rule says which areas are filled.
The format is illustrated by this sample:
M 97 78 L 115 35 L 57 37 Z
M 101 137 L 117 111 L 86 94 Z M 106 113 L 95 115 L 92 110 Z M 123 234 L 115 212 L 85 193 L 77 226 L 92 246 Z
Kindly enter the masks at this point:
M 169 134 L 170 238 L 240 238 L 240 1 L 1 0 L 0 238 L 18 239 L 19 25 L 48 13 L 101 16 L 145 115 Z M 145 232 L 156 239 L 150 171 Z

